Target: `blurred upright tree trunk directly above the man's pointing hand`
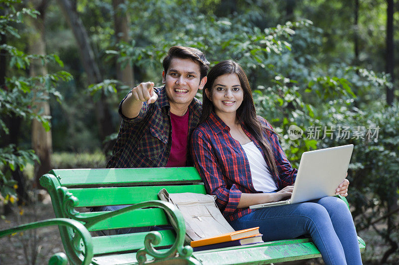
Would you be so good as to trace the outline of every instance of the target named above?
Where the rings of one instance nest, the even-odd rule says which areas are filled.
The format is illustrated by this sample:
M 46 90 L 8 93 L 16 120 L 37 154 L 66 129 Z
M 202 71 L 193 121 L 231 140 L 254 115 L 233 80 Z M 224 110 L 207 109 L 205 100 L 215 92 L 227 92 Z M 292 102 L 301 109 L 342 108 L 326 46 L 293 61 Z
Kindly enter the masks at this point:
M 130 42 L 129 16 L 126 10 L 120 6 L 124 2 L 124 0 L 112 0 L 112 5 L 114 7 L 114 23 L 117 43 L 121 41 L 126 43 Z M 130 64 L 122 67 L 120 63 L 117 63 L 117 79 L 120 80 L 124 86 L 132 87 L 134 85 L 133 67 Z

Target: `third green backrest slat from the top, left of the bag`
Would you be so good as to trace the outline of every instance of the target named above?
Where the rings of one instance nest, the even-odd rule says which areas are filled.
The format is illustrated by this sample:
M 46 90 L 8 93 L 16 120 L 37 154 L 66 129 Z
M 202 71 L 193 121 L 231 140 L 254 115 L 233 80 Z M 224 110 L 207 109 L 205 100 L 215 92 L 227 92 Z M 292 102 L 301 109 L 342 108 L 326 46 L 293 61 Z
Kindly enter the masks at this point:
M 98 216 L 107 212 L 89 212 L 81 213 L 82 216 L 91 217 Z M 126 222 L 129 220 L 129 222 Z M 107 230 L 126 227 L 143 227 L 153 225 L 168 225 L 169 220 L 163 209 L 137 209 L 134 211 L 126 212 L 109 219 L 103 220 L 92 226 L 89 231 Z

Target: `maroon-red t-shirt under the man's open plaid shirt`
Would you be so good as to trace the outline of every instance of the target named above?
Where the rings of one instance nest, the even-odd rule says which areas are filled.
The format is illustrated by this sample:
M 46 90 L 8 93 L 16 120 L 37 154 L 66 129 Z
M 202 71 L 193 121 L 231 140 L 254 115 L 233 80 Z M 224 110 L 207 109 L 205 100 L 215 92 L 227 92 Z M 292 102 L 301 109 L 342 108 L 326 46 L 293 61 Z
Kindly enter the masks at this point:
M 171 114 L 172 148 L 166 167 L 185 167 L 189 135 L 189 110 L 183 116 Z

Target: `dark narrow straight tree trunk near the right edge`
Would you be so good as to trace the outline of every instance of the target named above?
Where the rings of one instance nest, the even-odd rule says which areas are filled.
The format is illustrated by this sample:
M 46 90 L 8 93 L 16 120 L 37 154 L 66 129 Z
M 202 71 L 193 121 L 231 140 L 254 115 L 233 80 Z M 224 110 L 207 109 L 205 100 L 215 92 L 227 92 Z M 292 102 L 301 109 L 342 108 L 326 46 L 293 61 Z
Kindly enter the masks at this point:
M 387 61 L 386 72 L 394 84 L 394 0 L 387 0 Z M 387 88 L 387 104 L 394 103 L 394 88 Z

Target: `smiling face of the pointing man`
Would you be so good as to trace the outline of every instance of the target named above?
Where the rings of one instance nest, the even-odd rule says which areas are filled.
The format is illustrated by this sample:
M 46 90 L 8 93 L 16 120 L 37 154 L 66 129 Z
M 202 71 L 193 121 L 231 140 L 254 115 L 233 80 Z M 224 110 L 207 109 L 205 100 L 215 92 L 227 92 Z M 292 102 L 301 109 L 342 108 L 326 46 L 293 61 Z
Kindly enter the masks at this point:
M 206 77 L 200 78 L 200 66 L 191 59 L 172 59 L 168 72 L 164 71 L 162 78 L 171 109 L 181 108 L 182 105 L 188 107 L 198 89 L 206 83 Z

